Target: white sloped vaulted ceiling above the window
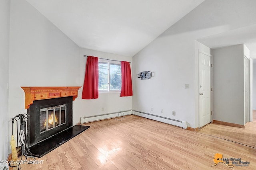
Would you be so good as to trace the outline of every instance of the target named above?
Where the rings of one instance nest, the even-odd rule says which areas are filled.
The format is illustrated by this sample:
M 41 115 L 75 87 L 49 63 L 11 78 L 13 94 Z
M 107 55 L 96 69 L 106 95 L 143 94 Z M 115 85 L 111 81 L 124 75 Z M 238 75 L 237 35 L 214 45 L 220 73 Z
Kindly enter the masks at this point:
M 27 0 L 79 47 L 132 57 L 204 0 Z

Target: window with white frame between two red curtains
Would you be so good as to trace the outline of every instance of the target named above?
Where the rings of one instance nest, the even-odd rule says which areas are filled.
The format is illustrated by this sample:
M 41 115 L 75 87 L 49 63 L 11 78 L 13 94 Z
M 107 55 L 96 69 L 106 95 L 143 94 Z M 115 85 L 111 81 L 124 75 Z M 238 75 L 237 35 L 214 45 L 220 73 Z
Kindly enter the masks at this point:
M 99 92 L 120 92 L 121 64 L 120 62 L 98 61 Z

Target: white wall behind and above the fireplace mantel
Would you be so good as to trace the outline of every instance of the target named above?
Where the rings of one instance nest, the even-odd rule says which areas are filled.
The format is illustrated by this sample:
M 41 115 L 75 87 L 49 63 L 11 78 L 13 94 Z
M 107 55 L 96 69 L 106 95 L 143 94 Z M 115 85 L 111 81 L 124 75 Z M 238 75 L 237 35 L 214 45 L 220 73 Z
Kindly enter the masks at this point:
M 20 86 L 81 85 L 80 48 L 26 0 L 10 6 L 9 127 L 11 117 L 27 112 Z

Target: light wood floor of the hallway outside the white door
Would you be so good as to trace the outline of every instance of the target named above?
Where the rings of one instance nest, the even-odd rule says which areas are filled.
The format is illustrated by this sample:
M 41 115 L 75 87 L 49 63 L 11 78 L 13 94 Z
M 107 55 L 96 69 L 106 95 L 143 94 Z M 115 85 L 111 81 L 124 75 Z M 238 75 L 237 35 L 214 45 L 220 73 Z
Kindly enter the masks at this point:
M 247 122 L 244 129 L 211 123 L 198 132 L 256 148 L 256 110 L 252 117 L 252 122 Z

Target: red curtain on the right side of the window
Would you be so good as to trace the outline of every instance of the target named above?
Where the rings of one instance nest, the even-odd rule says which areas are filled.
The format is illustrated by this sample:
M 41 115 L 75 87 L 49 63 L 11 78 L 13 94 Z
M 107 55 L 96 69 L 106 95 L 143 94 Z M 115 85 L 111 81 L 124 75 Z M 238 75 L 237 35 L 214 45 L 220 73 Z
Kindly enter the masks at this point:
M 127 61 L 121 61 L 121 73 L 122 73 L 122 87 L 121 94 L 122 96 L 132 96 L 132 74 L 130 63 Z

